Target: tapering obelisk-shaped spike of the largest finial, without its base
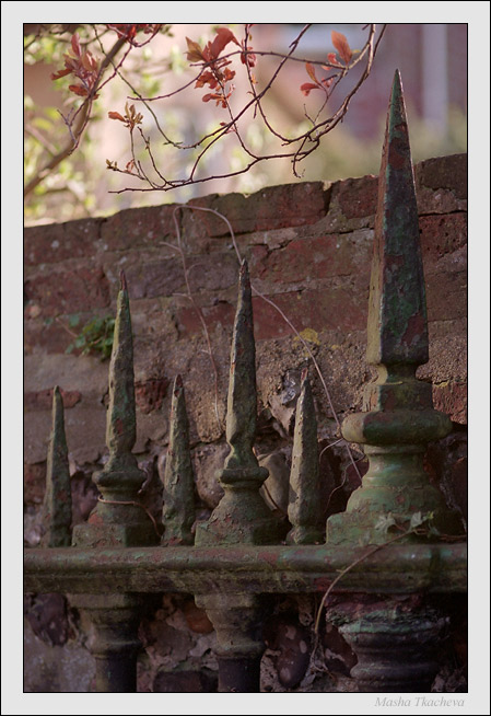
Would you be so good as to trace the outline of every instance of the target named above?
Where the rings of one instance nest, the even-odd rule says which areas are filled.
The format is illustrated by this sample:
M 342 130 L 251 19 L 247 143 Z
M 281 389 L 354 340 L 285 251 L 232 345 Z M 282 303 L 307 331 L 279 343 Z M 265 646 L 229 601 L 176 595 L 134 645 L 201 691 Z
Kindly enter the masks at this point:
M 369 363 L 425 363 L 426 302 L 399 70 L 387 113 L 369 303 Z

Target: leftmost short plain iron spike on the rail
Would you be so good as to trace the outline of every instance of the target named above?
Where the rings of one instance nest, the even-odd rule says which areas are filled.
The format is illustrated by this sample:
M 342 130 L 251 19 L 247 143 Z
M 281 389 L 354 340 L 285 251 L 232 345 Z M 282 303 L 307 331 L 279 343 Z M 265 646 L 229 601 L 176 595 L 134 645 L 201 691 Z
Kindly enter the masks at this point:
M 63 400 L 60 389 L 52 391 L 52 429 L 46 470 L 43 508 L 45 533 L 43 546 L 65 547 L 71 544 L 71 486 L 68 448 L 65 435 Z

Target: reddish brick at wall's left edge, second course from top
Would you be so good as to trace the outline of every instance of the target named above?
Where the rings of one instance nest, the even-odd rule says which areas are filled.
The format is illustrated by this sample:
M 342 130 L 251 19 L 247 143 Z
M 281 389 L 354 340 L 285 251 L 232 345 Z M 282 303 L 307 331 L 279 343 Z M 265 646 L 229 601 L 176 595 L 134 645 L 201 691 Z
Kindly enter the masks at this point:
M 109 305 L 109 286 L 98 266 L 33 276 L 25 281 L 24 291 L 27 300 L 40 307 L 44 317 Z

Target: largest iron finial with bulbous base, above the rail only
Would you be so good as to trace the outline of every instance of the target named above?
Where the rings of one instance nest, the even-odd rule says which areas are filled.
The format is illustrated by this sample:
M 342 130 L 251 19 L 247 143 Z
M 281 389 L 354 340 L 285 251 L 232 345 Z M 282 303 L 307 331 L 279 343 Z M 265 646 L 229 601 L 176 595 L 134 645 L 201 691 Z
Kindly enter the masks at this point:
M 426 443 L 447 435 L 452 424 L 446 415 L 433 409 L 431 384 L 416 379 L 418 366 L 428 361 L 426 305 L 398 71 L 379 175 L 366 356 L 378 378 L 365 389 L 365 412 L 349 415 L 342 435 L 349 442 L 365 444 L 370 467 L 346 512 L 328 519 L 328 542 L 384 541 L 386 534 L 375 526 L 387 516 L 407 527 L 414 513 L 431 513 L 435 527 L 447 532 L 459 530 L 459 521 L 423 469 Z

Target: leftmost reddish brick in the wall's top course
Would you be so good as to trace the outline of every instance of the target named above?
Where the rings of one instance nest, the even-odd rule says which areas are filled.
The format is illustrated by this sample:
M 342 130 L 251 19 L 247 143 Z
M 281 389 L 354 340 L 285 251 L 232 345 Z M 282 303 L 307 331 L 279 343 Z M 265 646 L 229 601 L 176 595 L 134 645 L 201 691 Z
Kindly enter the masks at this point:
M 28 266 L 92 256 L 98 245 L 102 219 L 79 219 L 24 229 L 24 261 Z

